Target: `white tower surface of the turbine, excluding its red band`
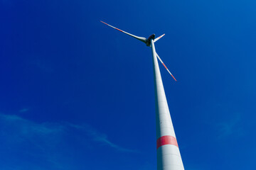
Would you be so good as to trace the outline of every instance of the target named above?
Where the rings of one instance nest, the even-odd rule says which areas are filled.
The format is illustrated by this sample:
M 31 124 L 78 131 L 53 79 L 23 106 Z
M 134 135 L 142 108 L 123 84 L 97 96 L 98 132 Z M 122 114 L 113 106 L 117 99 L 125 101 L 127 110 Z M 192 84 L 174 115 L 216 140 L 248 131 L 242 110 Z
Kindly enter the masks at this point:
M 156 139 L 163 136 L 175 137 L 169 107 L 166 101 L 159 64 L 156 58 L 154 40 L 151 40 L 154 61 L 154 84 L 156 97 Z M 161 145 L 157 148 L 157 170 L 183 170 L 183 162 L 179 149 L 175 145 Z

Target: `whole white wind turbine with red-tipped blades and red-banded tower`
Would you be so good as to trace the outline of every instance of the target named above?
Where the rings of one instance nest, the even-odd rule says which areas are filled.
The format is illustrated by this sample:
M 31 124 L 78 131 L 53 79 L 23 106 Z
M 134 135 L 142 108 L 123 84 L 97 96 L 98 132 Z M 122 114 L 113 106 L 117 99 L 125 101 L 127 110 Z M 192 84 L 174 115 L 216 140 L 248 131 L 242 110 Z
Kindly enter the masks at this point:
M 100 21 L 105 23 L 103 21 Z M 105 23 L 107 26 L 109 24 Z M 161 64 L 167 69 L 164 62 L 162 62 L 159 55 L 157 55 L 154 42 L 162 38 L 164 35 L 155 38 L 155 35 L 152 34 L 149 38 L 138 37 L 136 35 L 132 35 L 123 30 L 115 28 L 114 26 L 110 26 L 116 30 L 121 31 L 127 35 L 136 38 L 144 43 L 146 46 L 151 47 L 153 61 L 154 61 L 154 86 L 155 86 L 155 98 L 156 98 L 156 155 L 157 155 L 157 170 L 183 170 L 183 162 L 181 159 L 181 153 L 178 149 L 178 143 L 176 140 L 176 135 L 174 132 L 174 126 L 171 121 L 171 115 L 169 112 L 168 103 L 166 101 L 166 95 L 164 92 L 164 86 L 161 79 L 161 74 L 159 70 L 159 64 L 157 58 L 160 60 Z M 167 69 L 169 74 L 171 72 Z M 171 77 L 174 76 L 171 74 Z M 176 79 L 174 78 L 176 81 Z

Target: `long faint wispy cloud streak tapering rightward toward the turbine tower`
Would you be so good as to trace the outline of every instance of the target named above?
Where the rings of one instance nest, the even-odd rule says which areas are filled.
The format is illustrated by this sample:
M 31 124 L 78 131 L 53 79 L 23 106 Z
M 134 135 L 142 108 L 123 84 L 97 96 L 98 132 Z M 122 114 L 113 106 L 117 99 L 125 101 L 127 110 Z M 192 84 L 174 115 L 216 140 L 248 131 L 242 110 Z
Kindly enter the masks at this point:
M 95 130 L 92 126 L 83 124 L 75 125 L 72 123 L 35 123 L 31 120 L 21 118 L 18 115 L 4 115 L 0 114 L 1 121 L 1 132 L 4 133 L 4 130 L 7 130 L 10 134 L 16 134 L 12 137 L 16 137 L 16 140 L 29 140 L 33 138 L 41 137 L 41 141 L 48 142 L 53 136 L 61 137 L 61 135 L 67 135 L 67 133 L 73 128 L 75 130 L 80 130 L 84 133 L 83 137 L 87 137 L 87 140 L 91 140 L 92 143 L 98 142 L 107 147 L 112 147 L 119 152 L 138 152 L 133 149 L 126 149 L 120 147 L 119 145 L 110 142 L 107 139 L 107 135 Z M 48 136 L 50 138 L 48 138 Z M 50 140 L 52 142 L 53 140 Z M 58 139 L 54 139 L 55 142 Z

